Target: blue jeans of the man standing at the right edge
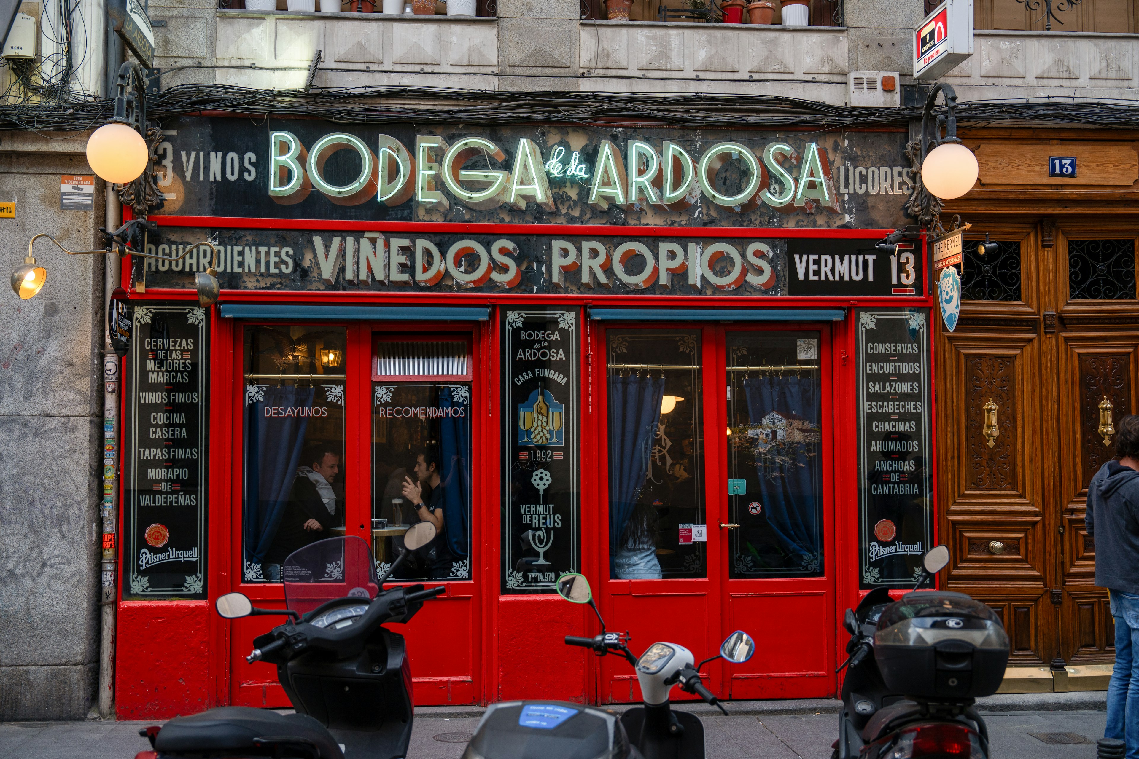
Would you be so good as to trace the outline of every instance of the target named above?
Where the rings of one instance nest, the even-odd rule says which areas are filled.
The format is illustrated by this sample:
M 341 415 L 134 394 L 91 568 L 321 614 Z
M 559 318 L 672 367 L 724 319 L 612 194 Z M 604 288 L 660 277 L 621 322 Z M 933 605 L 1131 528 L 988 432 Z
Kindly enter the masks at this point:
M 1126 759 L 1139 759 L 1139 595 L 1111 591 L 1115 618 L 1115 668 L 1107 685 L 1104 737 L 1122 739 Z

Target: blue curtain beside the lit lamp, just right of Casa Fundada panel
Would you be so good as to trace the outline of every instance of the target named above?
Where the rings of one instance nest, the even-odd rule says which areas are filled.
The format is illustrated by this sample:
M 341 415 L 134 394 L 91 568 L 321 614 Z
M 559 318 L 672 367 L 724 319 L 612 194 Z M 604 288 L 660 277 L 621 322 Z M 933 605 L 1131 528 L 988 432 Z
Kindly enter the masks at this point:
M 609 376 L 609 551 L 640 497 L 661 421 L 664 378 Z

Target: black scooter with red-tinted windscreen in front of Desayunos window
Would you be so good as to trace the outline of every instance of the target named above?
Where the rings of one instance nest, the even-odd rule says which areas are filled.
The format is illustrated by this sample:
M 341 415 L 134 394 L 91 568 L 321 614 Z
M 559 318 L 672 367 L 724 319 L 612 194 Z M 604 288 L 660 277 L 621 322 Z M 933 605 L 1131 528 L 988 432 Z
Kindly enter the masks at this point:
M 413 553 L 435 537 L 431 522 L 403 536 L 401 553 L 380 578 L 368 544 L 335 537 L 292 553 L 281 566 L 284 611 L 256 609 L 241 593 L 216 602 L 226 619 L 289 618 L 254 638 L 249 663 L 277 666 L 296 713 L 221 707 L 147 727 L 150 751 L 136 759 L 174 757 L 297 757 L 396 759 L 411 740 L 411 667 L 403 636 L 384 627 L 407 622 L 445 588 L 384 588 Z

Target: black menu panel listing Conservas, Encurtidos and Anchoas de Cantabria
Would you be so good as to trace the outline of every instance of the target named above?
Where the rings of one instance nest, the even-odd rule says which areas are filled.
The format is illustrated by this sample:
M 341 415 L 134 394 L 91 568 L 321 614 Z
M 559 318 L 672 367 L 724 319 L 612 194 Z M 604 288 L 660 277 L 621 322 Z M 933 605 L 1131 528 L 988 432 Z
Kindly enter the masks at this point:
M 929 312 L 858 313 L 861 587 L 911 586 L 933 541 Z

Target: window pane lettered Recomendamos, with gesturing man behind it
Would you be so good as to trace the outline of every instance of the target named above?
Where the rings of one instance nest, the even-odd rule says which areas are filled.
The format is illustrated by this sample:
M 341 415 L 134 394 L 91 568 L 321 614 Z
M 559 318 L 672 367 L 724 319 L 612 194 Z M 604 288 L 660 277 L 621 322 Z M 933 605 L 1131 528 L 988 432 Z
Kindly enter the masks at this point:
M 429 521 L 439 530 L 435 538 L 396 567 L 392 578 L 470 579 L 470 382 L 380 379 L 372 401 L 376 572 L 392 568 L 408 527 Z

